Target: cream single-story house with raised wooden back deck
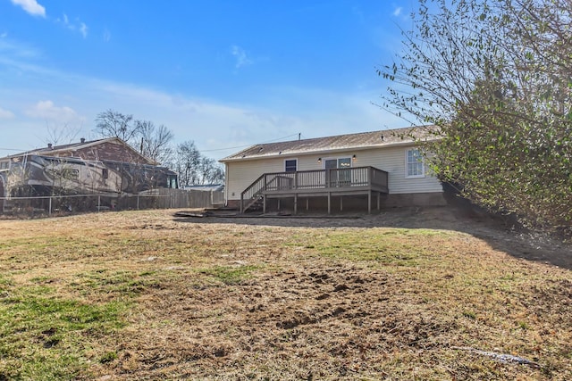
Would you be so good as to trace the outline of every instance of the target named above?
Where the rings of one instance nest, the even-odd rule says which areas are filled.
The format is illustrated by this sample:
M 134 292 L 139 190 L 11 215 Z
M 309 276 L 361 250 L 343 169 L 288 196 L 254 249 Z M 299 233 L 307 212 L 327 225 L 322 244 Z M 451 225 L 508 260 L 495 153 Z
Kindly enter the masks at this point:
M 442 184 L 418 145 L 434 139 L 434 131 L 422 126 L 252 145 L 220 161 L 227 206 L 330 213 L 444 204 Z

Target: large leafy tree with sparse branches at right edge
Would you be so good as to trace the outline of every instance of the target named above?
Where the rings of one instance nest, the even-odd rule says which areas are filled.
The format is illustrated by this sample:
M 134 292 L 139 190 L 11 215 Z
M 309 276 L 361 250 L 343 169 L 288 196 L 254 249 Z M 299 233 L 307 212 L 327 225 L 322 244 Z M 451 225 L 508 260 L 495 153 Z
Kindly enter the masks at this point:
M 382 106 L 437 125 L 433 170 L 523 222 L 570 232 L 572 6 L 421 0 L 404 51 L 378 70 Z

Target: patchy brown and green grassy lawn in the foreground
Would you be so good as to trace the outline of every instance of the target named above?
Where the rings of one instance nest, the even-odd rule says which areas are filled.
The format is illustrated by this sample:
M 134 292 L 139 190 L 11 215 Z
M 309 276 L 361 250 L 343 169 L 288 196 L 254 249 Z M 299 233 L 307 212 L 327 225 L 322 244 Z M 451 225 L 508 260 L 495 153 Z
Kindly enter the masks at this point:
M 572 379 L 572 271 L 508 234 L 172 213 L 0 220 L 0 381 Z

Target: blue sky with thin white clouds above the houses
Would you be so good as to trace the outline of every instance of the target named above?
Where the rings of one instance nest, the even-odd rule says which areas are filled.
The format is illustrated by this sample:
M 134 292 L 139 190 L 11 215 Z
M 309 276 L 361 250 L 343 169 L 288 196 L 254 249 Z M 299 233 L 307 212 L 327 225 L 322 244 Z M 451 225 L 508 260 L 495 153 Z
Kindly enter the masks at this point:
M 0 0 L 0 156 L 112 109 L 214 159 L 245 145 L 405 127 L 375 68 L 414 0 Z M 53 142 L 52 142 L 53 143 Z

